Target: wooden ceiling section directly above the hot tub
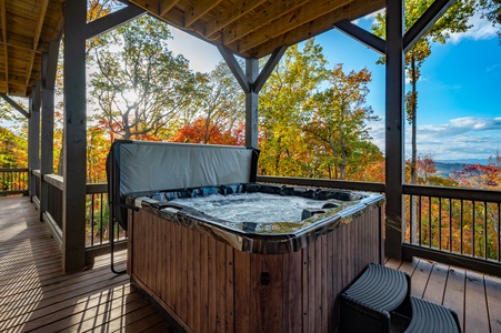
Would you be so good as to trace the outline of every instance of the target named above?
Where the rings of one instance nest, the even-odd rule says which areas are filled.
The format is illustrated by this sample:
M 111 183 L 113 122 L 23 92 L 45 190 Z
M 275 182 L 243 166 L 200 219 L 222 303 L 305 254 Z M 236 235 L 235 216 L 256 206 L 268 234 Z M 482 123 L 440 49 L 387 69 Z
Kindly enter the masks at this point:
M 130 0 L 243 58 L 261 58 L 384 7 L 383 0 Z

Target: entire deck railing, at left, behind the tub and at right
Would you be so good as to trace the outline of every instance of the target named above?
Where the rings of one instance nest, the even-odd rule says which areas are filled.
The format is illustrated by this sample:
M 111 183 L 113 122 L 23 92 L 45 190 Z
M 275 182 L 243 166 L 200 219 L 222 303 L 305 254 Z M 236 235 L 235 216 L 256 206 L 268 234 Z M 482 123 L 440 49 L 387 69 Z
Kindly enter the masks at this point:
M 28 170 L 12 172 L 27 174 Z M 33 174 L 40 176 L 37 171 Z M 12 175 L 12 179 L 18 178 L 24 179 L 24 175 Z M 62 235 L 60 231 L 62 229 L 62 178 L 44 175 L 44 181 L 50 184 L 47 216 L 48 220 L 53 221 L 53 225 L 57 225 L 57 230 Z M 379 193 L 383 193 L 385 188 L 383 183 L 263 175 L 258 176 L 258 181 Z M 88 248 L 109 243 L 107 190 L 103 183 L 87 186 Z M 405 230 L 402 243 L 404 259 L 420 256 L 501 275 L 501 193 L 499 191 L 410 184 L 404 184 L 402 191 L 405 201 Z M 36 194 L 40 195 L 39 193 Z M 117 230 L 114 234 L 119 235 L 119 240 L 126 238 L 123 230 Z

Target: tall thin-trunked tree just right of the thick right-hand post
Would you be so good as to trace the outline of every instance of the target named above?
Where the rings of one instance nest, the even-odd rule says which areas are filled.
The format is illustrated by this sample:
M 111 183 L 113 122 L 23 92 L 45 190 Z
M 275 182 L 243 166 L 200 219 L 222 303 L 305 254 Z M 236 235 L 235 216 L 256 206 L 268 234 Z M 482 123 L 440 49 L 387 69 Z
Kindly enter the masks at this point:
M 405 31 L 424 13 L 434 0 L 407 0 L 405 3 Z M 431 54 L 431 43 L 444 44 L 451 33 L 464 32 L 471 28 L 468 20 L 474 13 L 474 1 L 457 1 L 449 10 L 430 28 L 424 36 L 405 53 L 405 73 L 409 78 L 411 90 L 405 93 L 405 112 L 408 122 L 412 127 L 412 158 L 411 158 L 411 183 L 417 180 L 417 114 L 418 114 L 418 81 L 421 78 L 421 67 Z M 375 17 L 372 31 L 385 37 L 385 13 Z M 379 61 L 384 63 L 384 59 Z

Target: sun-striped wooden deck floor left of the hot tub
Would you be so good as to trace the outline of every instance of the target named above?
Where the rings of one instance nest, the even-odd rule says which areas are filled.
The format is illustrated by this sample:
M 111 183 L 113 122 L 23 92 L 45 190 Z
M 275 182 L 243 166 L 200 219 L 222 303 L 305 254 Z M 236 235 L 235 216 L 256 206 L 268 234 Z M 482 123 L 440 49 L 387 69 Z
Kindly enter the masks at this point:
M 64 274 L 59 253 L 28 198 L 0 199 L 0 332 L 174 332 L 108 255 Z

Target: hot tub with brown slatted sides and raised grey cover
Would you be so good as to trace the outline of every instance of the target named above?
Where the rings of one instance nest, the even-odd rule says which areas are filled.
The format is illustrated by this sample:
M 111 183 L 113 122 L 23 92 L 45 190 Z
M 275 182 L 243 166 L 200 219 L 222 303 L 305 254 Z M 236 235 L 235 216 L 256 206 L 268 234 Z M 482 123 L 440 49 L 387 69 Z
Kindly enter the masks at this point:
M 246 148 L 112 150 L 128 273 L 188 332 L 333 332 L 341 290 L 382 261 L 380 194 L 255 183 Z

